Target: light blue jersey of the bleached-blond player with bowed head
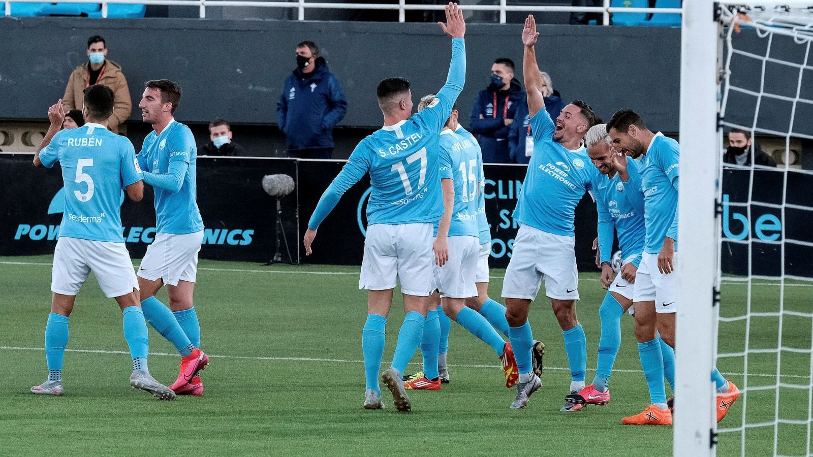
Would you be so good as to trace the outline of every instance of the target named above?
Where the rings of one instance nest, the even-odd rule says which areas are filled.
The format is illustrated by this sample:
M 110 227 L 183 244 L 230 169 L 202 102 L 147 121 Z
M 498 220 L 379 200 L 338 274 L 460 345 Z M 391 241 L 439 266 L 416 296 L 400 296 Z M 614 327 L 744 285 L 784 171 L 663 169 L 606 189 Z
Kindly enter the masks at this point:
M 598 209 L 598 251 L 602 263 L 611 261 L 614 229 L 618 233 L 621 258 L 638 255 L 633 264 L 637 267 L 641 263 L 646 224 L 639 167 L 637 160 L 627 160 L 629 180 L 625 183 L 621 182 L 618 173 L 613 177 L 599 174 L 593 181 L 593 197 Z

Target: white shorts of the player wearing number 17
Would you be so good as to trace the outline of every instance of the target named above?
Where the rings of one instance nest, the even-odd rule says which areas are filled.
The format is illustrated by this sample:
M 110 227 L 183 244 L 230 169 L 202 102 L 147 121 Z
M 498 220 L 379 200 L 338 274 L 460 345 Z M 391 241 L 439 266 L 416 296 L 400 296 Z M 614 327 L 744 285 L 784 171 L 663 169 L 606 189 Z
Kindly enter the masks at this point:
M 432 224 L 372 224 L 367 227 L 359 289 L 394 289 L 428 297 L 433 291 Z

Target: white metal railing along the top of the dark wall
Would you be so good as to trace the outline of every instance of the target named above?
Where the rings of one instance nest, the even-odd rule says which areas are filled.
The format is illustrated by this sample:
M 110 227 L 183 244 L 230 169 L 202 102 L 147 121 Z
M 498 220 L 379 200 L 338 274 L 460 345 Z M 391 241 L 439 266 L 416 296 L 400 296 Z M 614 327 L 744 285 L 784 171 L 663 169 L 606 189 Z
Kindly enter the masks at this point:
M 94 3 L 102 5 L 102 17 L 107 17 L 107 5 L 160 5 L 160 6 L 183 6 L 200 7 L 200 18 L 206 18 L 207 7 L 266 7 L 266 8 L 288 8 L 298 11 L 298 20 L 305 20 L 305 10 L 309 8 L 320 8 L 327 10 L 398 10 L 398 22 L 405 22 L 406 11 L 442 11 L 444 5 L 422 5 L 407 4 L 406 0 L 398 0 L 398 3 L 326 3 L 326 2 L 306 2 L 297 0 L 292 2 L 259 2 L 252 0 L 104 0 L 102 2 L 91 2 L 89 0 L 59 0 L 60 3 Z M 6 16 L 11 16 L 11 3 L 6 5 Z M 15 0 L 15 3 L 41 3 L 41 0 Z M 611 7 L 611 0 L 604 0 L 602 7 L 572 7 L 572 6 L 541 6 L 541 5 L 508 5 L 507 0 L 499 0 L 498 5 L 464 5 L 467 11 L 498 11 L 500 14 L 500 24 L 506 23 L 506 12 L 508 11 L 528 11 L 533 12 L 566 12 L 566 13 L 602 13 L 602 24 L 610 25 L 611 13 L 663 13 L 680 14 L 682 8 L 625 8 Z

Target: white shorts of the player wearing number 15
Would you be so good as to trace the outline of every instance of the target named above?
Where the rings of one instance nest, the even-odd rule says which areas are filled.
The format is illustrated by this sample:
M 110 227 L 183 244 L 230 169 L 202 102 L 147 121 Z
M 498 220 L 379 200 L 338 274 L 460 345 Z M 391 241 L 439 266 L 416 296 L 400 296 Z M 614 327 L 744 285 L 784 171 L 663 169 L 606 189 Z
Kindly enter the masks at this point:
M 472 298 L 477 296 L 476 270 L 480 256 L 480 238 L 467 235 L 449 237 L 449 260 L 434 266 L 435 289 L 441 297 Z

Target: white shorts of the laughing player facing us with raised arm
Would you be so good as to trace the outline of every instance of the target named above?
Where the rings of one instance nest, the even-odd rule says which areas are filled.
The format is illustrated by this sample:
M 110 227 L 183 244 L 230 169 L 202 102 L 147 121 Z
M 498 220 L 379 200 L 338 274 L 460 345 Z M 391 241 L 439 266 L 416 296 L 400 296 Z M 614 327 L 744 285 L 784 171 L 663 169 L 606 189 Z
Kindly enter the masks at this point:
M 520 226 L 502 283 L 502 297 L 534 300 L 544 279 L 548 297 L 578 300 L 579 272 L 575 247 L 576 237 L 554 235 L 529 225 Z

